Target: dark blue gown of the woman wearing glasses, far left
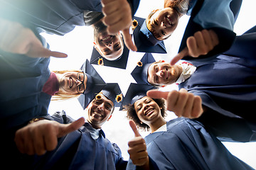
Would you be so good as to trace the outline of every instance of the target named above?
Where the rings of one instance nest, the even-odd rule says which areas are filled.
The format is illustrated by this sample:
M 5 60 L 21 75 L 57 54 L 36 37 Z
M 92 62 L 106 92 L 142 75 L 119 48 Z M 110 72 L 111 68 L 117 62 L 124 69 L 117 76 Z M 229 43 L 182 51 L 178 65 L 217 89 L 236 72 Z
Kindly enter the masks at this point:
M 50 58 L 0 51 L 1 130 L 16 129 L 32 118 L 48 114 L 51 96 L 42 89 L 50 77 L 49 62 Z

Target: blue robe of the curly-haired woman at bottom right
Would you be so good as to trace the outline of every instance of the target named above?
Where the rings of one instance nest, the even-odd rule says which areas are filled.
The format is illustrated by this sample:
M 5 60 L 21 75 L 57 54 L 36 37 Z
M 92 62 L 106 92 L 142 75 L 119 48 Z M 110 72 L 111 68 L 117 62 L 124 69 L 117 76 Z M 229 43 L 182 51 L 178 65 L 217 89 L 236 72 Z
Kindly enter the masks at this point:
M 151 133 L 144 140 L 151 164 L 161 170 L 252 169 L 196 120 L 170 120 L 166 132 Z M 127 169 L 137 169 L 130 159 Z

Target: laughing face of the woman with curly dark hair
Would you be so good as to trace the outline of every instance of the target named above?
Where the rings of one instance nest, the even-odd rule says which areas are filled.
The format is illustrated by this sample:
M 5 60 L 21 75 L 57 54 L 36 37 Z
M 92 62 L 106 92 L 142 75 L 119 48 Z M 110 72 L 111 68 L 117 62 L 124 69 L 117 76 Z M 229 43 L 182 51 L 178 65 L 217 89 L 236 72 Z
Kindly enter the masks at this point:
M 143 98 L 135 101 L 134 108 L 139 120 L 147 125 L 156 121 L 161 116 L 158 104 L 148 96 L 144 96 Z

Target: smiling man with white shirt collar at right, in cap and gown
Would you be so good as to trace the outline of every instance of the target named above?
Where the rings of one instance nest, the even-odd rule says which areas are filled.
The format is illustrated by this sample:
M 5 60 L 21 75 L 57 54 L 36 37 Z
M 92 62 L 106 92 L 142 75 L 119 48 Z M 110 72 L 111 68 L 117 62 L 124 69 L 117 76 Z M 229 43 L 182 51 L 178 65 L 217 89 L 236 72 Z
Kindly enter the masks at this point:
M 210 125 L 217 135 L 250 141 L 256 129 L 255 114 L 251 114 L 256 102 L 255 30 L 237 36 L 230 50 L 218 56 L 191 58 L 174 66 L 142 58 L 142 67 L 136 67 L 132 75 L 138 83 L 176 83 L 178 89 L 200 96 L 205 108 L 201 122 Z

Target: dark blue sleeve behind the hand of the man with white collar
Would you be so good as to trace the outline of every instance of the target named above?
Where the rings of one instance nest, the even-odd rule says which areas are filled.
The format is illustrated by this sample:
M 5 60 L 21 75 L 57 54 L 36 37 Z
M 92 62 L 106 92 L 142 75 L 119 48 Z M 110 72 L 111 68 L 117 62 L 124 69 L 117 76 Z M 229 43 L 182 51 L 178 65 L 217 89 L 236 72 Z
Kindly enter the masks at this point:
M 203 91 L 189 91 L 202 98 L 206 111 L 196 119 L 206 125 L 221 141 L 252 142 L 256 140 L 256 125 L 220 108 Z

